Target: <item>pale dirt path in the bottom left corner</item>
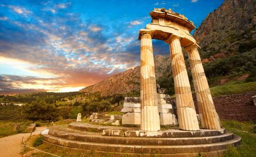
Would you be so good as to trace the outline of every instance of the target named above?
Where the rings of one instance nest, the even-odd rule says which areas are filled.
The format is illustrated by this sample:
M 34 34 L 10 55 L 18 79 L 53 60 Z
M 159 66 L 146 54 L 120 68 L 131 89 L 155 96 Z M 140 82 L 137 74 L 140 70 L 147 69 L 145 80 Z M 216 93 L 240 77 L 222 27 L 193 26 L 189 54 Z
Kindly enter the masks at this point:
M 32 135 L 39 135 L 46 127 L 36 127 Z M 22 150 L 22 137 L 27 139 L 30 133 L 19 133 L 0 138 L 0 157 L 21 157 L 19 154 Z

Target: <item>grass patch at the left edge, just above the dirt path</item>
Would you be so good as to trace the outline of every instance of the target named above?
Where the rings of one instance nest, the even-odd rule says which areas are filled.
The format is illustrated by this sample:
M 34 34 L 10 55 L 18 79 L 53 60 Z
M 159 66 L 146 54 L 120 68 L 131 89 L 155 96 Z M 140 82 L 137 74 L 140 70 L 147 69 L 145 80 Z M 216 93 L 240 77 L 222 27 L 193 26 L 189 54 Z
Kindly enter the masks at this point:
M 17 133 L 24 133 L 26 128 L 30 125 L 30 121 L 26 122 L 8 122 L 0 121 L 0 138 L 10 135 L 15 135 Z M 16 127 L 18 126 L 18 127 Z

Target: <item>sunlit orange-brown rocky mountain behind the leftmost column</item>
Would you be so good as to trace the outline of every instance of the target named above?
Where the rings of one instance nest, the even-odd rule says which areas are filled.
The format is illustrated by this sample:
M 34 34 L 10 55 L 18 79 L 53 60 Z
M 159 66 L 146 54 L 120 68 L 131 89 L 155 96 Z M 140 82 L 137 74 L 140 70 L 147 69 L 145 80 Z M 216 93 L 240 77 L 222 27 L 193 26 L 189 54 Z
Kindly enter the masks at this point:
M 156 78 L 161 78 L 170 69 L 170 58 L 162 55 L 154 57 Z M 100 92 L 102 96 L 113 94 L 126 94 L 139 91 L 140 67 L 128 69 L 123 73 L 115 74 L 94 85 L 80 90 L 85 93 Z

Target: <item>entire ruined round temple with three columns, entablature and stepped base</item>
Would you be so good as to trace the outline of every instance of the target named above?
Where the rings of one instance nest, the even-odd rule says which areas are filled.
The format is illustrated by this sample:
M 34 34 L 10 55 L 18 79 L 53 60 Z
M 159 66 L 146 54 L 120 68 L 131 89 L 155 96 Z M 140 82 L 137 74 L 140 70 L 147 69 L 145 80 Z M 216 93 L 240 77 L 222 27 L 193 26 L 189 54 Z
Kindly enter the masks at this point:
M 184 15 L 164 8 L 155 8 L 149 14 L 152 22 L 139 31 L 141 96 L 125 98 L 122 109 L 123 124 L 140 124 L 140 127 L 94 125 L 91 123 L 120 122 L 121 116 L 93 113 L 91 123 L 50 127 L 48 134 L 42 135 L 45 142 L 82 150 L 112 152 L 116 156 L 128 153 L 132 156 L 154 154 L 165 157 L 218 157 L 228 146 L 240 143 L 241 137 L 221 128 L 197 50 L 199 46 L 190 34 L 195 25 Z M 168 95 L 163 94 L 163 89 L 157 89 L 152 39 L 169 44 L 176 105 Z M 189 58 L 201 128 L 182 47 L 187 50 Z M 179 129 L 161 130 L 162 124 L 177 124 L 177 118 Z

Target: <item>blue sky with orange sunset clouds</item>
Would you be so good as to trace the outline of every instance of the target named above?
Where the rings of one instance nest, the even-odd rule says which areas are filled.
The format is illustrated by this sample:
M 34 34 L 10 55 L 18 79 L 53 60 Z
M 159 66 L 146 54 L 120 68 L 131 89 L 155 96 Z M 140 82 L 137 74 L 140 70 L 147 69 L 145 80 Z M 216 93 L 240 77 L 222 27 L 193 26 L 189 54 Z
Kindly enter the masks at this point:
M 0 94 L 70 92 L 140 64 L 139 29 L 153 8 L 196 27 L 223 0 L 1 0 Z M 168 55 L 153 40 L 154 55 Z

